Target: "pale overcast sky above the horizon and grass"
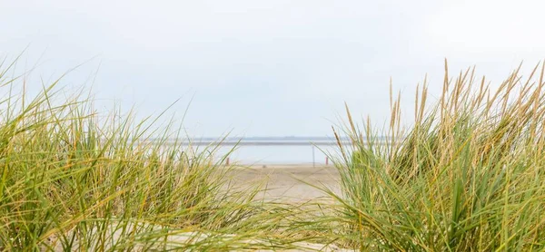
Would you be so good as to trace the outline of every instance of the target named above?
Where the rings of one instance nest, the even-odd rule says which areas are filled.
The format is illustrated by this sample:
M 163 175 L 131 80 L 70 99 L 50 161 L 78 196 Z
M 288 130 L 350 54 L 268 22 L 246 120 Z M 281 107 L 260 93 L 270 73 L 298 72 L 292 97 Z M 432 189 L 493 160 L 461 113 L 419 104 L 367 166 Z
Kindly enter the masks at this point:
M 39 63 L 35 90 L 91 60 L 62 85 L 94 81 L 101 111 L 182 98 L 181 118 L 193 97 L 192 135 L 322 136 L 343 102 L 386 120 L 390 78 L 410 112 L 426 73 L 439 92 L 444 58 L 493 81 L 530 69 L 545 58 L 541 2 L 0 0 L 0 55 L 27 48 L 17 68 Z

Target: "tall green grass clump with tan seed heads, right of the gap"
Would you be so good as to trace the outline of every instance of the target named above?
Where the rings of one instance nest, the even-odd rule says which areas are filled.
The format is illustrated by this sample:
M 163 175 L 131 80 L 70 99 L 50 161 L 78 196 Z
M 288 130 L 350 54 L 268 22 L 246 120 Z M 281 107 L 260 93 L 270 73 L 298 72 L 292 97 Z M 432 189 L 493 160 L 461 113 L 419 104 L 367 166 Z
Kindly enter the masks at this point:
M 359 128 L 336 166 L 342 195 L 334 220 L 343 243 L 371 251 L 545 249 L 545 64 L 520 67 L 492 88 L 474 69 L 447 71 L 437 103 L 417 88 L 414 125 Z M 340 132 L 335 132 L 337 136 Z M 381 135 L 389 136 L 385 141 Z

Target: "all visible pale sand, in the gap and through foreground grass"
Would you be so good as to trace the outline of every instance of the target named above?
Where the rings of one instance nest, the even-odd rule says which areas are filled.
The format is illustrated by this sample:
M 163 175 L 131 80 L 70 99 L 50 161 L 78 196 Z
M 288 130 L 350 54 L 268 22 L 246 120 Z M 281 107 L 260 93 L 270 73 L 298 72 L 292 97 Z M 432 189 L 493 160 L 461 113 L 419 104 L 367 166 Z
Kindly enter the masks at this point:
M 240 166 L 230 174 L 233 182 L 238 185 L 255 185 L 262 183 L 263 193 L 258 195 L 258 199 L 273 200 L 281 202 L 301 203 L 309 200 L 332 200 L 322 189 L 315 186 L 327 187 L 335 193 L 339 192 L 339 174 L 332 166 L 312 166 L 311 165 L 263 165 L 259 166 Z M 314 186 L 312 186 L 312 185 Z M 113 224 L 108 232 L 107 237 L 113 240 L 118 240 L 121 237 L 120 230 L 114 228 Z M 161 228 L 161 227 L 156 227 Z M 208 237 L 207 234 L 198 234 L 193 232 L 182 232 L 173 234 L 167 237 L 168 242 L 175 244 L 191 244 L 198 242 L 203 238 Z M 226 235 L 225 240 L 235 238 L 233 235 Z M 51 237 L 50 246 L 54 251 L 63 251 L 58 239 Z M 240 241 L 247 244 L 263 244 L 266 240 L 243 240 Z M 342 249 L 334 245 L 313 244 L 306 242 L 296 242 L 292 246 L 300 247 L 299 249 L 277 249 L 276 251 L 353 251 Z M 74 248 L 78 248 L 78 241 L 74 241 Z M 89 248 L 89 247 L 88 247 Z M 95 250 L 97 247 L 91 247 Z M 108 247 L 106 247 L 107 249 Z M 138 246 L 134 247 L 138 250 Z M 163 247 L 164 248 L 164 247 Z M 272 250 L 257 250 L 257 251 L 272 251 Z

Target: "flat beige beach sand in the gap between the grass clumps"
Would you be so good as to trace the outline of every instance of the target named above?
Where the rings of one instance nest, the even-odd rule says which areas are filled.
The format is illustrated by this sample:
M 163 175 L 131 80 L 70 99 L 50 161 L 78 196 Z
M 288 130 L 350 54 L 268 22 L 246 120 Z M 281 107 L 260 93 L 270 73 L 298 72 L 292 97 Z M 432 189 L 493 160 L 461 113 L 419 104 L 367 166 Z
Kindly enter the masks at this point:
M 239 184 L 263 183 L 264 191 L 257 197 L 266 200 L 302 202 L 331 199 L 316 187 L 327 187 L 339 193 L 339 173 L 332 166 L 260 165 L 233 170 L 233 181 Z

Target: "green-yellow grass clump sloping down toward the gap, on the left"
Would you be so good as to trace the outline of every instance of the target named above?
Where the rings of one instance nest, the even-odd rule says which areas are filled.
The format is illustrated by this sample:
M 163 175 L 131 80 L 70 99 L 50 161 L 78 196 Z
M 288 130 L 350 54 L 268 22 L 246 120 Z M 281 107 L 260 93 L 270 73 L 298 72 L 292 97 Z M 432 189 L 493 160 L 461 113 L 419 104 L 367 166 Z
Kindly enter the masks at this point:
M 55 84 L 34 99 L 0 74 L 0 250 L 296 247 L 298 208 L 233 187 L 217 145 L 195 151 L 173 123 L 94 111 Z M 302 212 L 302 211 L 300 211 Z M 265 239 L 266 238 L 266 239 Z

